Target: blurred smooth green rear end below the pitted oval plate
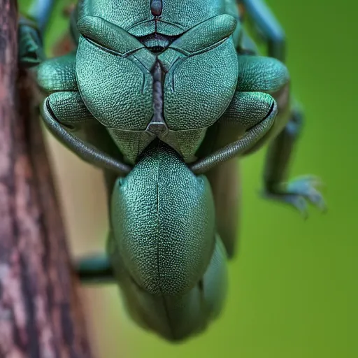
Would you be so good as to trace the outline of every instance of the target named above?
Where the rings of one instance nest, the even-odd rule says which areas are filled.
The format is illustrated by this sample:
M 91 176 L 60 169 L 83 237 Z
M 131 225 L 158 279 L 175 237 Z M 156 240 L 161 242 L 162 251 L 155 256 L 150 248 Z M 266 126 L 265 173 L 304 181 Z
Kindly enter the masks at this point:
M 183 294 L 150 294 L 140 287 L 124 266 L 111 236 L 108 252 L 124 306 L 143 329 L 178 342 L 204 331 L 220 314 L 227 295 L 227 255 L 219 236 L 216 236 L 213 256 L 200 284 Z

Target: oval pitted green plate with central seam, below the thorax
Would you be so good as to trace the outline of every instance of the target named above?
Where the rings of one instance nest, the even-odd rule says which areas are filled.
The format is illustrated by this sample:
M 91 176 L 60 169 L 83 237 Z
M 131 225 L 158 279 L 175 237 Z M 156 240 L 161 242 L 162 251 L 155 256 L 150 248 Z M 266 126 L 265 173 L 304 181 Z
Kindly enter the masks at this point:
M 210 185 L 167 145 L 152 143 L 117 182 L 111 218 L 124 265 L 151 294 L 184 294 L 206 271 L 215 243 Z

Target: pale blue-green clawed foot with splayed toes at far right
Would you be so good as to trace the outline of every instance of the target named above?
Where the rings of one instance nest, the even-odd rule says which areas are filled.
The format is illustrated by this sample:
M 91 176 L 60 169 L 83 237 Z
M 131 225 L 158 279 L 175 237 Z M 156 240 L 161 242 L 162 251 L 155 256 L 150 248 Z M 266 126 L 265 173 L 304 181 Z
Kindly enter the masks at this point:
M 312 203 L 322 212 L 327 210 L 326 203 L 320 191 L 322 186 L 320 178 L 315 176 L 302 176 L 266 189 L 268 199 L 278 200 L 294 206 L 306 219 L 308 217 L 308 203 Z

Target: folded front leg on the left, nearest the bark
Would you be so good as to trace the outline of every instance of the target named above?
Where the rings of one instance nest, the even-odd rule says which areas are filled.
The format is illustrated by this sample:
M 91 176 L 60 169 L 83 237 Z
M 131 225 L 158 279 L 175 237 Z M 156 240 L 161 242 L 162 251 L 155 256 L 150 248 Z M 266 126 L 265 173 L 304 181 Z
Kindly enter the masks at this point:
M 73 153 L 85 162 L 123 175 L 131 168 L 110 155 L 96 140 L 83 140 L 78 134 L 89 124 L 98 123 L 85 106 L 76 81 L 76 53 L 48 59 L 37 71 L 37 82 L 42 92 L 50 93 L 41 106 L 46 127 Z M 76 132 L 76 133 L 75 133 Z M 101 135 L 101 134 L 99 134 Z

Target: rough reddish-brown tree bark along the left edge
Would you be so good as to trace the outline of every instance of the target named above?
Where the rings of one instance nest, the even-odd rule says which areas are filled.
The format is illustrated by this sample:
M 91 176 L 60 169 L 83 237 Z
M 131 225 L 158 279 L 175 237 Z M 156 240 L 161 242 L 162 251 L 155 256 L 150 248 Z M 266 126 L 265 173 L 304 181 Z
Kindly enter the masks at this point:
M 0 0 L 0 358 L 90 358 L 36 101 Z

